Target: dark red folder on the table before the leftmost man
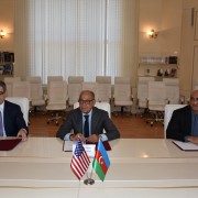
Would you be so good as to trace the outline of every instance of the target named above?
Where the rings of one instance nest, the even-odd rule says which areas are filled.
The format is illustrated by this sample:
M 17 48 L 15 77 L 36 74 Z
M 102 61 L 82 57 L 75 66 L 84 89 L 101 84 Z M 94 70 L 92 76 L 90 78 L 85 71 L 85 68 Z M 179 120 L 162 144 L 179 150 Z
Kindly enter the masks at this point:
M 19 138 L 3 138 L 0 139 L 0 151 L 13 150 L 22 139 Z

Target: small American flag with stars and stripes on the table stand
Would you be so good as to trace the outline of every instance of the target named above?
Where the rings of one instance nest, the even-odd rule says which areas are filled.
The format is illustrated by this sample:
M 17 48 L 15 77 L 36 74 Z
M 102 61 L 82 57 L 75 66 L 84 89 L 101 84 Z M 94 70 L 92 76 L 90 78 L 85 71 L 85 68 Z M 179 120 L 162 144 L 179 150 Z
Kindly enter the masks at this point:
M 75 152 L 73 154 L 70 168 L 79 180 L 87 172 L 89 164 L 90 164 L 90 160 L 81 144 L 80 139 L 78 139 L 76 143 Z

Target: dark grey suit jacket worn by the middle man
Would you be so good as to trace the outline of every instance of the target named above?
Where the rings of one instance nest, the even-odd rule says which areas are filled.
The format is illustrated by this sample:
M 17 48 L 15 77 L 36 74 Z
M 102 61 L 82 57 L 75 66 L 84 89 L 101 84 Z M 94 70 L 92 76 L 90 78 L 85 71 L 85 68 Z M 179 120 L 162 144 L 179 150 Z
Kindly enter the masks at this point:
M 91 117 L 91 134 L 102 134 L 103 129 L 106 130 L 108 140 L 120 138 L 120 133 L 109 118 L 108 112 L 94 107 Z M 67 133 L 72 132 L 72 130 L 74 130 L 75 134 L 82 133 L 82 113 L 79 108 L 69 112 L 67 120 L 58 129 L 56 136 L 63 140 Z

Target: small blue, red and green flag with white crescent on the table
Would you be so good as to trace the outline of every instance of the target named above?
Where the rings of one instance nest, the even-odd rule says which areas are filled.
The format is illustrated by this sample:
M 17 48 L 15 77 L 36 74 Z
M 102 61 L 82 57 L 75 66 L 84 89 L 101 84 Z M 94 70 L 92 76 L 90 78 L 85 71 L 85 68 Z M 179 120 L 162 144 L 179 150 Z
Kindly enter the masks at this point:
M 95 158 L 92 162 L 92 168 L 98 174 L 99 178 L 103 182 L 107 170 L 110 166 L 109 156 L 107 154 L 106 148 L 103 147 L 103 144 L 101 140 L 98 142 L 98 148 L 95 154 Z

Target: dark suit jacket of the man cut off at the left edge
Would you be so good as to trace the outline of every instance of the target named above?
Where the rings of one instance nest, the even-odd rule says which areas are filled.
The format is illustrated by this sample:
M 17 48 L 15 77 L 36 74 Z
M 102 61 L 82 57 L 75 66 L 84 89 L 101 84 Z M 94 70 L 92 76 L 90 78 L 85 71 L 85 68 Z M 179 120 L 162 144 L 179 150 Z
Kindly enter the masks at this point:
M 29 132 L 20 106 L 4 100 L 4 131 L 7 136 L 16 136 L 20 129 Z

